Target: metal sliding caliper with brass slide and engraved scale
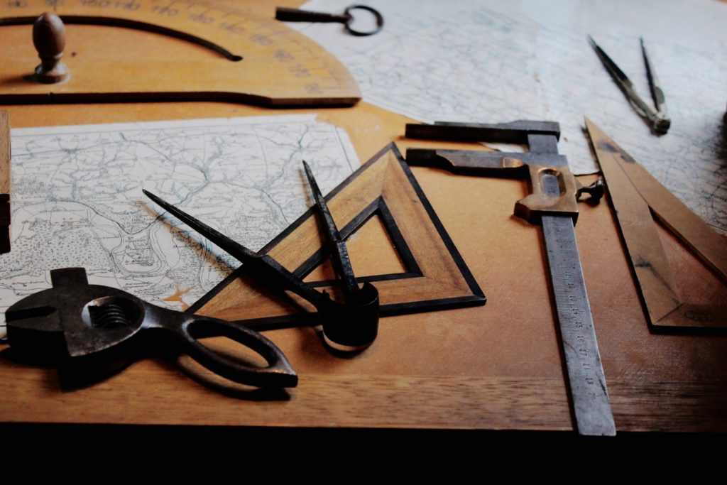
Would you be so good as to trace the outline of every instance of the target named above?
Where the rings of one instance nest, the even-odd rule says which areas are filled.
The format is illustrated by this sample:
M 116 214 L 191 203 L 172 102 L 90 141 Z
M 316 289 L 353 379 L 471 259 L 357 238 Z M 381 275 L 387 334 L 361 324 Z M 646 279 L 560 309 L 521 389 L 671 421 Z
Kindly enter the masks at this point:
M 518 143 L 529 145 L 530 151 L 410 148 L 406 151 L 406 161 L 410 165 L 440 167 L 464 174 L 529 177 L 531 194 L 515 203 L 515 215 L 532 224 L 540 223 L 543 228 L 578 432 L 614 436 L 616 426 L 574 231 L 579 196 L 587 191 L 597 202 L 603 194 L 603 185 L 580 186 L 566 157 L 558 154 L 560 135 L 558 123 L 550 121 L 407 124 L 406 136 L 410 138 Z

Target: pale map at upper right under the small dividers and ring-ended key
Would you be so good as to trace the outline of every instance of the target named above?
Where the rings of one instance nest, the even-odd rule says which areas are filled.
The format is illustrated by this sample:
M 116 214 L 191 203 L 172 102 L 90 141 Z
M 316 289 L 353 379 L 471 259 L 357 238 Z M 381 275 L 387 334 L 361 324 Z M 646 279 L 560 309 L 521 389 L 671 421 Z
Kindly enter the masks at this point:
M 676 196 L 727 233 L 727 4 L 705 0 L 370 0 L 385 25 L 354 37 L 340 25 L 294 24 L 351 70 L 364 99 L 419 121 L 561 123 L 576 173 L 596 167 L 588 116 Z M 345 2 L 307 9 L 340 12 Z M 365 12 L 354 12 L 364 19 Z M 643 36 L 672 127 L 651 135 L 611 81 L 587 34 L 649 99 Z M 375 59 L 375 62 L 372 60 Z

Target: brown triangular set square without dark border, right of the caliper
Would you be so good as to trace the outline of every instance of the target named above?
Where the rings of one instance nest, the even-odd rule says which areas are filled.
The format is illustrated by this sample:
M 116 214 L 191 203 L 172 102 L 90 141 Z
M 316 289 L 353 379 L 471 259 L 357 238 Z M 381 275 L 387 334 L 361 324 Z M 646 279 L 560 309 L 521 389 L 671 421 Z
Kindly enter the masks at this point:
M 606 178 L 637 286 L 654 327 L 727 328 L 724 305 L 694 304 L 680 296 L 652 214 L 727 281 L 727 244 L 590 119 L 591 146 Z

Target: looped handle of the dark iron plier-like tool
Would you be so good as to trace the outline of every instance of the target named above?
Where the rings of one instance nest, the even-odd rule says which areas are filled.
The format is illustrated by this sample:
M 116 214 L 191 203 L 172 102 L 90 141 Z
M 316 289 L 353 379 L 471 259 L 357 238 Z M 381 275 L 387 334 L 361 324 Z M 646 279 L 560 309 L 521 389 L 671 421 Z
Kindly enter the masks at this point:
M 260 388 L 293 388 L 298 376 L 276 345 L 246 326 L 234 321 L 217 318 L 191 317 L 181 325 L 164 325 L 167 330 L 180 337 L 185 353 L 217 375 L 234 382 L 254 385 Z M 202 337 L 228 337 L 265 358 L 267 367 L 244 364 L 235 358 L 225 356 L 198 339 Z

